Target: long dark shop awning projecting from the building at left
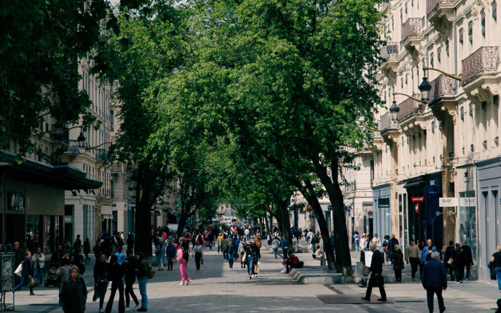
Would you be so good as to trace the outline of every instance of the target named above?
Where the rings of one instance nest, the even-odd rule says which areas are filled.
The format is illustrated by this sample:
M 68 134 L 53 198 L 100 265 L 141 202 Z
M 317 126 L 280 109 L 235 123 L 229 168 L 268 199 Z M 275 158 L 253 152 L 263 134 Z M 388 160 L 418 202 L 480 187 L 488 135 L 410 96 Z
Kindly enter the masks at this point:
M 101 181 L 87 178 L 84 171 L 69 165 L 52 166 L 28 158 L 23 163 L 18 164 L 16 155 L 5 150 L 0 150 L 0 160 L 5 162 L 0 166 L 0 172 L 6 178 L 39 183 L 64 190 L 96 189 L 103 185 Z

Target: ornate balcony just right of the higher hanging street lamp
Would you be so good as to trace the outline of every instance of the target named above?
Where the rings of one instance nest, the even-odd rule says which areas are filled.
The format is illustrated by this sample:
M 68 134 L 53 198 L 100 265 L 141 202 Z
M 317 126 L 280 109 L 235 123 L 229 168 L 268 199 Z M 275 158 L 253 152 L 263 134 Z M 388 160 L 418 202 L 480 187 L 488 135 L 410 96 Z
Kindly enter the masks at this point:
M 457 81 L 441 74 L 430 82 L 430 100 L 428 107 L 433 115 L 439 120 L 444 119 L 446 111 L 455 110 L 455 95 L 457 93 Z

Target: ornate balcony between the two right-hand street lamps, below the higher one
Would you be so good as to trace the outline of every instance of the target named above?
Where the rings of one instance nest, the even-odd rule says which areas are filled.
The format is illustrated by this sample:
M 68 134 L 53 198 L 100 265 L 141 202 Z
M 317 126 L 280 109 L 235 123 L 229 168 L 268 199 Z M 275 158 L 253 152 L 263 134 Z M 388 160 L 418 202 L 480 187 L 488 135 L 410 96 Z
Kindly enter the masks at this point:
M 413 96 L 416 98 L 420 97 L 419 94 L 414 94 Z M 398 124 L 407 136 L 426 128 L 425 121 L 422 118 L 422 113 L 426 109 L 424 103 L 408 98 L 400 103 L 398 107 L 400 108 L 400 111 L 398 111 Z

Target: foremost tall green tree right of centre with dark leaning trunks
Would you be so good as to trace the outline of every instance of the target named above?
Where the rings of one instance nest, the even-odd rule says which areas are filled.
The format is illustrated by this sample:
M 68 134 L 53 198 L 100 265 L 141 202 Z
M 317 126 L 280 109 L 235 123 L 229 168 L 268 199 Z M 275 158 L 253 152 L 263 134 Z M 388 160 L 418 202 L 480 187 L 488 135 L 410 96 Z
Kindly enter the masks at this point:
M 340 189 L 349 163 L 370 133 L 380 100 L 378 0 L 194 2 L 205 48 L 227 71 L 228 103 L 219 102 L 238 145 L 254 149 L 290 179 L 312 205 L 329 268 L 352 273 Z M 215 61 L 214 61 L 215 60 Z M 354 147 L 355 153 L 343 149 Z M 334 212 L 336 266 L 318 201 Z

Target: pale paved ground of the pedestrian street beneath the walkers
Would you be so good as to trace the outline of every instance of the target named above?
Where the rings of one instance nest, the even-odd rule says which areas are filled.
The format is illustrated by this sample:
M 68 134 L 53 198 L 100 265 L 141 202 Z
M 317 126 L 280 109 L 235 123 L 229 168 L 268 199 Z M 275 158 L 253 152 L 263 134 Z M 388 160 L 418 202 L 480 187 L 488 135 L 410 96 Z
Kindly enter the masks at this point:
M 349 310 L 358 312 L 427 312 L 425 292 L 419 282 L 401 282 L 386 284 L 388 298 L 394 303 L 375 304 L 326 304 L 317 294 L 362 294 L 365 288 L 351 285 L 302 285 L 289 275 L 281 274 L 281 260 L 275 260 L 273 254 L 264 250 L 262 264 L 257 278 L 248 279 L 246 269 L 239 263 L 231 269 L 222 260 L 217 250 L 204 252 L 204 264 L 200 271 L 195 270 L 192 258 L 188 262 L 188 275 L 192 285 L 179 286 L 179 268 L 177 263 L 173 271 L 157 272 L 147 284 L 148 311 L 176 313 L 262 313 L 262 312 L 333 312 Z M 311 261 L 310 253 L 298 254 L 301 260 Z M 88 264 L 84 278 L 89 282 L 89 296 L 86 312 L 97 312 L 98 302 L 92 302 L 92 267 Z M 316 264 L 316 263 L 313 263 Z M 409 279 L 410 280 L 410 279 Z M 137 284 L 135 292 L 139 296 Z M 16 310 L 24 312 L 62 312 L 57 305 L 58 291 L 54 287 L 37 287 L 35 296 L 29 296 L 27 287 L 16 292 Z M 492 312 L 499 293 L 494 284 L 470 281 L 463 284 L 451 283 L 444 291 L 447 312 Z M 109 292 L 107 296 L 109 295 Z M 375 290 L 374 297 L 379 297 Z M 139 296 L 140 297 L 140 296 Z M 7 294 L 7 302 L 12 301 L 12 294 Z M 118 312 L 118 298 L 112 312 Z M 436 306 L 436 301 L 435 301 Z M 435 311 L 438 311 L 435 309 Z

